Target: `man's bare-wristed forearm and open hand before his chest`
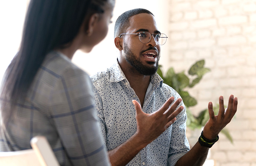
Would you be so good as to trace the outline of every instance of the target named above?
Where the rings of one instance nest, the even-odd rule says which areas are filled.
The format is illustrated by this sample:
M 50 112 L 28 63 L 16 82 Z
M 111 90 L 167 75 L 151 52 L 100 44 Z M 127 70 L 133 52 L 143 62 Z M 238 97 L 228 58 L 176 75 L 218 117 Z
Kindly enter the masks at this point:
M 137 130 L 124 143 L 108 151 L 109 160 L 113 166 L 128 164 L 141 149 L 159 137 L 174 123 L 175 117 L 184 108 L 180 106 L 176 109 L 181 99 L 172 104 L 173 101 L 174 97 L 170 97 L 160 109 L 151 114 L 144 113 L 140 104 L 136 100 L 132 101 L 136 110 Z

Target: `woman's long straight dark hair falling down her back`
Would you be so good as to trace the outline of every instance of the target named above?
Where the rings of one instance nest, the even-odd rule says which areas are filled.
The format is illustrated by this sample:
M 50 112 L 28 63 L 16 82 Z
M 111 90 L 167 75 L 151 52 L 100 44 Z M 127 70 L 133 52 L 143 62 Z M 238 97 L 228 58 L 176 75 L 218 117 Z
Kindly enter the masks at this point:
M 52 49 L 68 46 L 88 14 L 104 12 L 107 0 L 31 0 L 26 14 L 20 50 L 3 78 L 1 100 L 13 106 L 24 97 Z

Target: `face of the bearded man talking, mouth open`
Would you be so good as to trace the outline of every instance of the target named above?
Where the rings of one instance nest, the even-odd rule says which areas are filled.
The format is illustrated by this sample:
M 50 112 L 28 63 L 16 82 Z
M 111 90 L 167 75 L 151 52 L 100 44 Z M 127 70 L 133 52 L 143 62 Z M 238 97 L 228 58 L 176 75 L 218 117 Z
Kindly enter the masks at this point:
M 123 36 L 123 57 L 130 64 L 126 67 L 133 68 L 142 75 L 152 75 L 158 69 L 160 46 L 153 35 L 148 43 L 142 43 L 136 34 L 140 32 L 160 33 L 157 30 L 154 16 L 141 13 L 132 16 L 129 22 L 130 26 L 125 32 L 128 35 Z

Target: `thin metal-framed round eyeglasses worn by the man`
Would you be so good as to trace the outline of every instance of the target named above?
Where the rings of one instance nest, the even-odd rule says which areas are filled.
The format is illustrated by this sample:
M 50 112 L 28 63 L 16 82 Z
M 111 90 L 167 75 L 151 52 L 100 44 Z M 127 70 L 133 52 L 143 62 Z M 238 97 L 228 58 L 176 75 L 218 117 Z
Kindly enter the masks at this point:
M 119 37 L 121 37 L 122 35 L 123 34 L 120 34 Z M 168 38 L 166 34 L 150 34 L 149 32 L 140 32 L 137 35 L 139 35 L 140 42 L 142 43 L 148 43 L 151 39 L 151 35 L 153 35 L 156 43 L 159 45 L 164 45 Z

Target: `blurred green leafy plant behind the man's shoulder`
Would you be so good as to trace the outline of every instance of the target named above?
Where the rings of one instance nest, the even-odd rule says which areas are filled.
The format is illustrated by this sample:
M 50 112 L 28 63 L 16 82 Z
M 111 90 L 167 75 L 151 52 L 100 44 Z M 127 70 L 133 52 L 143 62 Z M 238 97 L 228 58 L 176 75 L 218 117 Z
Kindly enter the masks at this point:
M 195 106 L 197 101 L 194 97 L 190 96 L 188 91 L 185 90 L 185 88 L 188 89 L 194 87 L 197 83 L 199 83 L 205 73 L 210 72 L 209 68 L 204 67 L 204 60 L 199 60 L 193 64 L 188 71 L 188 76 L 184 71 L 175 73 L 172 67 L 169 68 L 165 75 L 163 75 L 161 67 L 162 66 L 159 65 L 157 73 L 160 75 L 160 77 L 162 77 L 165 84 L 169 85 L 180 94 L 186 106 L 188 115 L 187 127 L 192 130 L 204 127 L 209 119 L 208 109 L 200 111 L 198 116 L 193 115 L 189 107 Z M 217 115 L 219 111 L 219 105 L 214 106 L 213 110 L 215 115 Z M 221 132 L 228 138 L 231 143 L 233 143 L 233 139 L 227 129 L 224 128 Z

